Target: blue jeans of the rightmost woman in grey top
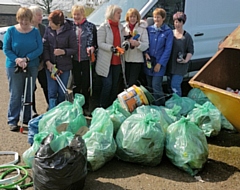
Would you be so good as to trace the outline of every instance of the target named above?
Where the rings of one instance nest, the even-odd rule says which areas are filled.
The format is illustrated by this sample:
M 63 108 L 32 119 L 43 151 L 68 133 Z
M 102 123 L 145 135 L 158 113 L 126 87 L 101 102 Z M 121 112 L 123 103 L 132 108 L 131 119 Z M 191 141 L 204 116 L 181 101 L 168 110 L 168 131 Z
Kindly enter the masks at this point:
M 169 75 L 167 77 L 167 84 L 168 84 L 168 89 L 170 90 L 170 93 L 176 93 L 178 96 L 182 96 L 182 88 L 181 84 L 183 81 L 183 76 L 182 75 Z

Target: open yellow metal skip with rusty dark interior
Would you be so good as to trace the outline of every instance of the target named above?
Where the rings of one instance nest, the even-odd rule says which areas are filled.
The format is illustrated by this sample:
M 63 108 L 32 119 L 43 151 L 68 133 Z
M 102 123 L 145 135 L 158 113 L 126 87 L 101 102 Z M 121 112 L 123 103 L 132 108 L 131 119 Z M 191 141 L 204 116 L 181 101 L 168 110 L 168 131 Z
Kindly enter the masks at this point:
M 240 131 L 240 26 L 219 46 L 220 50 L 189 81 L 201 89 L 221 113 Z

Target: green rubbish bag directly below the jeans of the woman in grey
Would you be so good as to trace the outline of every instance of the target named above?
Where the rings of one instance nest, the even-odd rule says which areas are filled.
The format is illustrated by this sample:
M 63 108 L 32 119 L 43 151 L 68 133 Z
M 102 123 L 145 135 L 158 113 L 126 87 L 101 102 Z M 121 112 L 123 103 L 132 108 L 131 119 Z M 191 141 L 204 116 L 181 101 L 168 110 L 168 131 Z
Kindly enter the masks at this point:
M 196 102 L 188 97 L 180 97 L 177 94 L 173 94 L 170 99 L 165 102 L 165 106 L 169 109 L 172 109 L 174 105 L 181 107 L 180 114 L 186 116 L 194 108 Z

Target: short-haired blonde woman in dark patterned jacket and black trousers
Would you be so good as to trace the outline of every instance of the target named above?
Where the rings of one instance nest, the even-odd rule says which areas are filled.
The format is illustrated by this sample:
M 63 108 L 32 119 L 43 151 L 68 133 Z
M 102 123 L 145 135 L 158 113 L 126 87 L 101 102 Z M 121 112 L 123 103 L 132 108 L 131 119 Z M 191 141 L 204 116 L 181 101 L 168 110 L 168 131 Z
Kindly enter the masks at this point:
M 73 93 L 82 93 L 85 97 L 83 111 L 89 115 L 90 96 L 90 54 L 97 48 L 97 29 L 94 24 L 88 22 L 85 15 L 85 8 L 82 5 L 72 7 L 72 17 L 74 19 L 73 29 L 77 35 L 78 53 L 73 59 Z

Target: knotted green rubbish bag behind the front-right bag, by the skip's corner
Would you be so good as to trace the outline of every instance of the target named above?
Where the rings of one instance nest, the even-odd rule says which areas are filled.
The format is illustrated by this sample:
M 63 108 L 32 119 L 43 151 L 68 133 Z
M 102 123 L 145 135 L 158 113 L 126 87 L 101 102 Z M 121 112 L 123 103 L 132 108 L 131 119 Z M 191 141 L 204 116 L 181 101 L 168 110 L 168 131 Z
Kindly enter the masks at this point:
M 221 130 L 221 113 L 209 101 L 203 105 L 196 105 L 188 116 L 207 137 L 216 136 Z

